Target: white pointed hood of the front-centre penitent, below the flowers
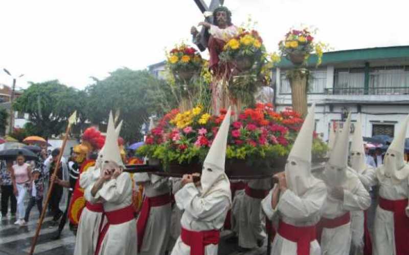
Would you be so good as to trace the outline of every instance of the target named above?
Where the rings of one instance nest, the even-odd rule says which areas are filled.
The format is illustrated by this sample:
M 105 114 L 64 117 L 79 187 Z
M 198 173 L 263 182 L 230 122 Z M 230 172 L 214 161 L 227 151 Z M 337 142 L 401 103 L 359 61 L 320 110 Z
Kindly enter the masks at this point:
M 208 193 L 215 191 L 215 189 L 223 189 L 224 191 L 228 191 L 231 197 L 230 182 L 224 172 L 230 115 L 231 109 L 229 107 L 229 111 L 221 122 L 219 131 L 217 132 L 208 155 L 203 162 L 203 169 L 200 177 L 202 188 L 201 196 L 206 196 Z

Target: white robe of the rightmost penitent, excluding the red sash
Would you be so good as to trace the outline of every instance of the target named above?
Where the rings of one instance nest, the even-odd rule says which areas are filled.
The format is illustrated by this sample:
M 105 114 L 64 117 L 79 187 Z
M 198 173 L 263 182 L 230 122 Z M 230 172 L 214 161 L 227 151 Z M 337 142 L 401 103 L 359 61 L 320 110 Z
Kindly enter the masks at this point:
M 383 180 L 378 180 L 378 182 L 379 196 L 384 199 L 400 200 L 409 197 L 409 178 L 400 183 L 394 182 L 391 178 L 383 178 Z M 406 208 L 406 216 L 409 217 L 409 208 Z M 396 255 L 394 229 L 393 212 L 383 210 L 377 206 L 374 221 L 374 238 L 372 241 L 373 255 Z

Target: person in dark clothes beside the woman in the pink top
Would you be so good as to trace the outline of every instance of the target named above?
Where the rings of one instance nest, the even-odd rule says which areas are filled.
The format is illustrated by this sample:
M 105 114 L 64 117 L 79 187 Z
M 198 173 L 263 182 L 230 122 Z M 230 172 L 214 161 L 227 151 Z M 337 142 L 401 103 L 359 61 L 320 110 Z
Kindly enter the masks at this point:
M 31 179 L 33 180 L 29 187 L 29 194 L 31 194 L 31 196 L 27 206 L 26 216 L 24 217 L 24 220 L 26 222 L 29 221 L 30 211 L 34 205 L 37 205 L 37 209 L 40 214 L 42 212 L 42 197 L 44 191 L 44 183 L 41 170 L 38 168 L 34 169 L 31 172 Z

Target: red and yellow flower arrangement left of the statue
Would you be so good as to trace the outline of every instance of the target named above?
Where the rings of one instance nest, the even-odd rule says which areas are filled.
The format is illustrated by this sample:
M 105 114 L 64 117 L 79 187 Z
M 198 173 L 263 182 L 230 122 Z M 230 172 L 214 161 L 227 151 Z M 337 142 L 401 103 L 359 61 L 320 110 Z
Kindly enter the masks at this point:
M 179 78 L 185 80 L 189 80 L 194 73 L 199 72 L 203 64 L 197 50 L 184 43 L 176 45 L 167 53 L 166 57 L 169 69 Z

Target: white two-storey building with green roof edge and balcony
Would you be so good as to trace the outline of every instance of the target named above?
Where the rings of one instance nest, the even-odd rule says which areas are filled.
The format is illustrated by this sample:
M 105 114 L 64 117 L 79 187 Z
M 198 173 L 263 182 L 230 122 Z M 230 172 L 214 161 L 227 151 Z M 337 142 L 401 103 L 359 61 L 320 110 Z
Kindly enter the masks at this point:
M 308 105 L 316 103 L 316 132 L 328 139 L 330 124 L 342 121 L 346 112 L 356 121 L 360 113 L 362 135 L 393 137 L 409 113 L 409 46 L 342 50 L 325 53 L 315 68 L 311 56 L 308 68 Z M 275 105 L 291 106 L 291 88 L 282 60 L 274 71 Z M 409 133 L 406 137 L 409 136 Z

